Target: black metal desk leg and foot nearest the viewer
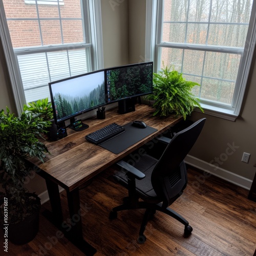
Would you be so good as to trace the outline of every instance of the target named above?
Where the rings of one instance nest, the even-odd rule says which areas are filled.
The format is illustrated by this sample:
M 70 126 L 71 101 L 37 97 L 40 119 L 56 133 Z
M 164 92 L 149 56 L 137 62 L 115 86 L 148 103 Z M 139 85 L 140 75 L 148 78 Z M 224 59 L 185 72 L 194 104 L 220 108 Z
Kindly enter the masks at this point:
M 71 192 L 67 190 L 67 198 L 70 214 L 70 227 L 68 234 L 69 240 L 76 245 L 86 255 L 94 255 L 96 249 L 83 240 L 82 236 L 82 220 L 80 209 L 79 189 L 76 188 Z

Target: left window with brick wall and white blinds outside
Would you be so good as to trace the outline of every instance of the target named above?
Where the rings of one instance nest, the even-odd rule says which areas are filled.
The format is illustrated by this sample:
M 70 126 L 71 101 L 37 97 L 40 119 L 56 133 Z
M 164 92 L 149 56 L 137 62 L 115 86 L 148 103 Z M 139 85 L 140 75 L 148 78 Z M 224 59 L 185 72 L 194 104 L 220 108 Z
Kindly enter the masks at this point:
M 0 33 L 19 113 L 27 102 L 50 99 L 49 82 L 103 68 L 99 1 L 29 2 L 0 2 Z

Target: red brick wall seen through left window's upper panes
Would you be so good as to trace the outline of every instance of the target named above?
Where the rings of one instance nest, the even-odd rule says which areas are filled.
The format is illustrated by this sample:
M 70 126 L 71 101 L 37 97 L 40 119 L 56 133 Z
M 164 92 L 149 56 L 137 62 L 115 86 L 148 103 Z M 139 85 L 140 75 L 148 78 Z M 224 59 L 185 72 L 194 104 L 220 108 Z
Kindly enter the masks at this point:
M 80 0 L 63 0 L 59 6 L 61 25 L 58 5 L 38 4 L 42 44 L 36 5 L 25 4 L 25 0 L 3 0 L 3 3 L 13 48 L 61 44 L 61 26 L 63 43 L 83 41 Z M 24 20 L 31 18 L 34 20 Z

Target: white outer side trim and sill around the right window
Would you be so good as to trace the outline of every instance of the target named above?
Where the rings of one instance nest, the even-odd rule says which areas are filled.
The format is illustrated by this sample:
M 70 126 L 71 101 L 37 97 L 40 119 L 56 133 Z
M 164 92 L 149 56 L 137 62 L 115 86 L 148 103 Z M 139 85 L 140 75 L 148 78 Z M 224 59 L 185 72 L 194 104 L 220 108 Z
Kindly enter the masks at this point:
M 154 61 L 154 72 L 157 72 L 157 67 L 160 67 L 160 63 L 157 63 L 157 47 L 159 47 L 159 42 L 157 42 L 157 33 L 161 33 L 161 26 L 157 27 L 157 20 L 161 19 L 158 17 L 157 8 L 162 7 L 162 0 L 146 0 L 146 45 L 145 45 L 145 59 Z M 256 2 L 253 1 L 252 13 L 256 13 Z M 237 78 L 237 82 L 241 84 L 239 90 L 234 92 L 234 103 L 232 108 L 222 108 L 220 105 L 205 104 L 201 103 L 204 113 L 231 121 L 235 121 L 239 116 L 241 111 L 241 106 L 243 102 L 243 97 L 245 93 L 245 88 L 249 76 L 249 71 L 251 67 L 253 52 L 255 48 L 256 41 L 256 15 L 251 15 L 250 23 L 248 28 L 244 53 L 241 60 L 241 67 Z M 197 111 L 197 109 L 196 109 Z

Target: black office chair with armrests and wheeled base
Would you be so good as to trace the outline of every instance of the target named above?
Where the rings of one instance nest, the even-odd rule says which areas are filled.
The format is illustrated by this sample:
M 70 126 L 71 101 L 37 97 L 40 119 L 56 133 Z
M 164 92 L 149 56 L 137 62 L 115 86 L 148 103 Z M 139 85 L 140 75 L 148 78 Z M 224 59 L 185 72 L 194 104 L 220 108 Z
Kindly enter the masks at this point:
M 129 196 L 123 199 L 122 205 L 112 209 L 109 218 L 117 218 L 117 211 L 120 210 L 146 209 L 139 230 L 138 243 L 143 244 L 146 241 L 143 233 L 148 220 L 153 218 L 156 210 L 184 224 L 184 237 L 192 232 L 193 228 L 188 225 L 188 221 L 168 206 L 182 195 L 187 185 L 184 158 L 200 135 L 205 120 L 206 118 L 196 121 L 172 139 L 159 138 L 167 144 L 159 160 L 145 154 L 134 166 L 123 160 L 117 163 L 121 170 L 114 178 L 128 189 Z

